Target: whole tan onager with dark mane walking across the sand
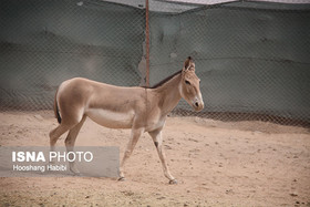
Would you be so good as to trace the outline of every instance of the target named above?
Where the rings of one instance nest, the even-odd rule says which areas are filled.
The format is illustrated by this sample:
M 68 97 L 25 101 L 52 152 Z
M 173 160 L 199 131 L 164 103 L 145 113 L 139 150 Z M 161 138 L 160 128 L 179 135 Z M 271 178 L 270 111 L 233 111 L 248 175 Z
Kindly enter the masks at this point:
M 147 132 L 157 149 L 164 175 L 169 184 L 176 184 L 162 146 L 162 130 L 167 115 L 182 97 L 195 111 L 204 108 L 199 82 L 190 56 L 185 61 L 183 70 L 153 87 L 122 87 L 81 77 L 64 81 L 54 100 L 54 113 L 60 125 L 50 133 L 51 151 L 54 151 L 59 137 L 69 131 L 65 146 L 68 152 L 72 152 L 87 116 L 105 127 L 131 128 L 131 138 L 120 165 L 120 180 L 124 180 L 124 165 L 140 136 Z M 80 174 L 74 162 L 70 163 L 70 170 Z

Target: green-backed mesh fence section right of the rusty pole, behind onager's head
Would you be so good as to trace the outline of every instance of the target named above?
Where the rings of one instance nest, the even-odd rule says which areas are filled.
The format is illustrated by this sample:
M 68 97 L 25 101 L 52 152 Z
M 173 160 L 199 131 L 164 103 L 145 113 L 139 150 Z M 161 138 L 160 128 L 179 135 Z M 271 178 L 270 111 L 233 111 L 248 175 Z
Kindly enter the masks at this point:
M 199 115 L 309 122 L 309 6 L 234 2 L 182 12 L 176 8 L 179 4 L 176 12 L 151 15 L 153 82 L 179 70 L 190 54 L 205 100 Z M 175 113 L 193 114 L 185 102 Z

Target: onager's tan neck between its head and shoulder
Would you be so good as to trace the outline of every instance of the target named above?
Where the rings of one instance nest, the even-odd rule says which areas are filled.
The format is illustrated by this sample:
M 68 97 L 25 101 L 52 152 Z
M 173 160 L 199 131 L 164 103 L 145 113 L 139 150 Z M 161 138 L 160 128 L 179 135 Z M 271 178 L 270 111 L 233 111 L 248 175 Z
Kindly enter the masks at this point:
M 179 82 L 182 73 L 175 75 L 163 85 L 153 89 L 156 93 L 158 106 L 162 110 L 163 115 L 170 113 L 182 99 L 179 92 Z

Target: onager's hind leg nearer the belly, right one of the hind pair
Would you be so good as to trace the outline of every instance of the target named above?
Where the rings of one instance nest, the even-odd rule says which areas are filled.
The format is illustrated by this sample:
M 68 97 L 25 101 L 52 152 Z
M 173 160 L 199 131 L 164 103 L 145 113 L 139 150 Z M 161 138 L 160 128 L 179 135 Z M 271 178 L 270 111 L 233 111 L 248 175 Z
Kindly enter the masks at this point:
M 64 141 L 65 147 L 66 147 L 66 152 L 74 152 L 74 144 L 76 141 L 76 136 L 81 130 L 81 127 L 83 126 L 84 122 L 86 120 L 86 116 L 83 116 L 81 122 L 79 124 L 76 124 L 73 128 L 71 128 L 66 135 L 66 138 Z M 69 159 L 72 161 L 73 159 L 73 155 L 70 154 L 69 155 Z M 74 174 L 74 175 L 80 175 L 81 173 L 79 172 L 79 169 L 75 167 L 75 162 L 69 162 L 69 166 L 70 166 L 70 170 Z

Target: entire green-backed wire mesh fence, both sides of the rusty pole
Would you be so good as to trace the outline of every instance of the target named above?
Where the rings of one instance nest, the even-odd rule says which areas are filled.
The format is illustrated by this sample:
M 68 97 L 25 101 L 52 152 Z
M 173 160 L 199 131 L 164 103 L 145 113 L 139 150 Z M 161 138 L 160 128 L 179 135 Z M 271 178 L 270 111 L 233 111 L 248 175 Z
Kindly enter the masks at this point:
M 188 55 L 202 80 L 204 111 L 173 114 L 309 126 L 309 4 L 120 2 L 1 1 L 1 110 L 50 110 L 74 76 L 145 85 L 148 21 L 151 85 Z

